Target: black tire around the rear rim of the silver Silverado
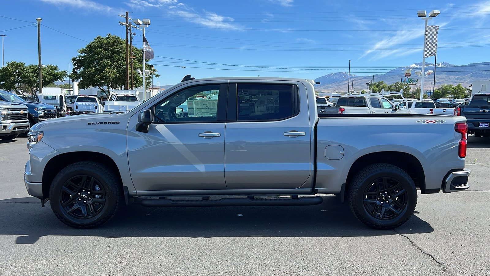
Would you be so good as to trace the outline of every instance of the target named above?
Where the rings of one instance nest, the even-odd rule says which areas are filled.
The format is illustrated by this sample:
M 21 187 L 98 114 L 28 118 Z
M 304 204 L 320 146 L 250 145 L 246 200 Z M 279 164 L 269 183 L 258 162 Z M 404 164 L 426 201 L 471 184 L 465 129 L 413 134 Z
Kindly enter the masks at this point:
M 390 177 L 400 182 L 402 188 L 406 190 L 407 195 L 407 205 L 402 213 L 396 218 L 386 221 L 373 218 L 364 206 L 364 192 L 366 191 L 366 188 L 373 181 L 382 177 Z M 359 215 L 361 215 L 368 223 L 373 224 L 377 227 L 391 227 L 402 223 L 414 213 L 415 207 L 417 205 L 417 189 L 415 188 L 413 180 L 408 177 L 408 175 L 405 175 L 394 169 L 382 168 L 371 171 L 368 175 L 364 177 L 361 185 L 355 193 L 353 205 L 355 205 L 355 209 L 357 209 L 356 212 L 360 213 Z

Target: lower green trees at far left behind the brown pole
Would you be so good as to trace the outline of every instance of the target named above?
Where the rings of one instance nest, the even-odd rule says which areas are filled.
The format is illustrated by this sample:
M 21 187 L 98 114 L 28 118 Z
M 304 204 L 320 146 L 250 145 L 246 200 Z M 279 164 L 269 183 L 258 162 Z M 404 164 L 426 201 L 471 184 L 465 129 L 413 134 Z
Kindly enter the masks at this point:
M 5 67 L 0 69 L 0 83 L 3 89 L 15 92 L 29 93 L 35 97 L 39 91 L 39 71 L 38 65 L 25 65 L 24 62 L 7 62 Z M 42 67 L 43 87 L 57 81 L 63 81 L 68 72 L 60 71 L 58 66 L 48 64 Z

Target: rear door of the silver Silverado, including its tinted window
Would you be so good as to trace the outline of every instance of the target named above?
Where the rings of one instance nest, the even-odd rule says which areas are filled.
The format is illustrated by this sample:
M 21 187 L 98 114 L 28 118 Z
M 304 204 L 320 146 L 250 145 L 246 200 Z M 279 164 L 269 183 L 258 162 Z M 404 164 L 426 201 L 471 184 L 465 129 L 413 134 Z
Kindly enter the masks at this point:
M 301 102 L 298 89 L 294 83 L 230 83 L 228 189 L 294 189 L 308 180 L 312 137 L 306 89 L 302 85 Z

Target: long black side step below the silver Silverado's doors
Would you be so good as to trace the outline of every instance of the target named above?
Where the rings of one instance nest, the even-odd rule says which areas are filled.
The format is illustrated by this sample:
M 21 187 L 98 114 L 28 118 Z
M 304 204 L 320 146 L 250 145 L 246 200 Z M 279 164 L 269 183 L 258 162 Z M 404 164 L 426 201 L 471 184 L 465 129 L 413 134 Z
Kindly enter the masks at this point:
M 298 198 L 221 198 L 204 200 L 172 200 L 148 199 L 141 200 L 145 207 L 231 207 L 231 206 L 306 206 L 317 205 L 323 202 L 321 196 L 306 196 Z

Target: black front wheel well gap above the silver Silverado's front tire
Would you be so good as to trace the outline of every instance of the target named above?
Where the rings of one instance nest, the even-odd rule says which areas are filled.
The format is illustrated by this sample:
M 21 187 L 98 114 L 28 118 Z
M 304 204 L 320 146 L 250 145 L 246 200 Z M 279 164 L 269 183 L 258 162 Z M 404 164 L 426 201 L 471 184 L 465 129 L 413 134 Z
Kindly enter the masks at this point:
M 43 171 L 43 197 L 49 197 L 49 189 L 54 177 L 65 167 L 72 165 L 73 163 L 80 161 L 95 161 L 109 167 L 119 180 L 119 183 L 123 183 L 121 172 L 116 162 L 103 153 L 91 152 L 91 151 L 74 151 L 59 154 L 46 164 Z M 121 187 L 123 189 L 123 187 Z

